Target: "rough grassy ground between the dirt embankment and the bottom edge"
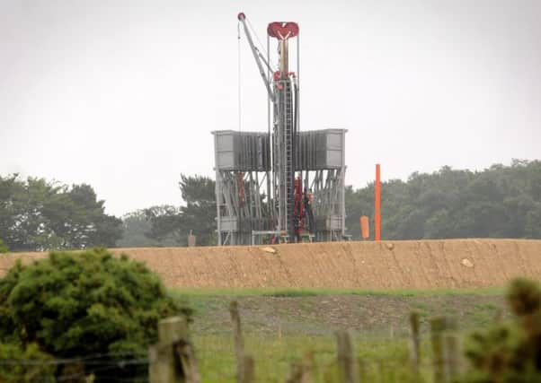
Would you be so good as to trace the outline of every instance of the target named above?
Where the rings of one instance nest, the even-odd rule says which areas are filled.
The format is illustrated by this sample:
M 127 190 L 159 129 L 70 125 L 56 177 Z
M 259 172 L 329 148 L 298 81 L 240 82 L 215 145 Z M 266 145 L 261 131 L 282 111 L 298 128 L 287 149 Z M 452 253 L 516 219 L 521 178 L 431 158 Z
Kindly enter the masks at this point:
M 364 381 L 420 381 L 409 364 L 408 315 L 421 316 L 423 381 L 432 381 L 430 318 L 458 319 L 460 333 L 506 317 L 503 289 L 359 291 L 335 289 L 175 290 L 195 310 L 191 335 L 203 381 L 235 381 L 235 352 L 228 305 L 237 300 L 246 350 L 256 381 L 282 382 L 292 361 L 313 360 L 316 382 L 333 382 L 334 331 L 349 329 Z

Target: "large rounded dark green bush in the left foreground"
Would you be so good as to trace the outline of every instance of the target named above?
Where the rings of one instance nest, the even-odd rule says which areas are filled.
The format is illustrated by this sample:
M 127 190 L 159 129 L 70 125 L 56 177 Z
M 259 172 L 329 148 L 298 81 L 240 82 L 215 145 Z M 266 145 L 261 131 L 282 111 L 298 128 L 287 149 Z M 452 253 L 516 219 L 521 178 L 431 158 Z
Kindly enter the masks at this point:
M 119 358 L 141 357 L 157 341 L 158 319 L 180 312 L 188 310 L 156 274 L 104 249 L 52 252 L 32 265 L 18 262 L 0 279 L 0 341 L 36 343 L 58 358 L 105 353 L 114 367 Z M 129 378 L 146 370 L 140 367 L 104 374 Z M 99 370 L 85 366 L 96 381 Z

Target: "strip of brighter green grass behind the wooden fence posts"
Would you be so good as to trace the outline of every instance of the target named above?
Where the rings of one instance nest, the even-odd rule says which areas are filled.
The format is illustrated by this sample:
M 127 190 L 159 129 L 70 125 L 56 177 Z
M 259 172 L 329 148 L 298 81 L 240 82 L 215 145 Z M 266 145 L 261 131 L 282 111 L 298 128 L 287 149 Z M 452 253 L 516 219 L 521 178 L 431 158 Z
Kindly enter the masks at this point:
M 332 335 L 254 335 L 245 336 L 248 353 L 255 361 L 255 377 L 260 382 L 283 382 L 291 362 L 313 358 L 315 382 L 337 382 L 336 348 Z M 198 347 L 199 367 L 203 381 L 235 382 L 235 352 L 230 337 L 225 335 L 194 335 Z M 409 368 L 407 340 L 363 340 L 356 338 L 355 347 L 362 361 L 364 381 L 404 382 L 412 378 Z M 431 381 L 428 364 L 430 347 L 422 345 L 427 363 L 421 369 L 425 381 Z M 406 379 L 406 380 L 404 380 Z

